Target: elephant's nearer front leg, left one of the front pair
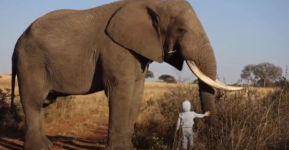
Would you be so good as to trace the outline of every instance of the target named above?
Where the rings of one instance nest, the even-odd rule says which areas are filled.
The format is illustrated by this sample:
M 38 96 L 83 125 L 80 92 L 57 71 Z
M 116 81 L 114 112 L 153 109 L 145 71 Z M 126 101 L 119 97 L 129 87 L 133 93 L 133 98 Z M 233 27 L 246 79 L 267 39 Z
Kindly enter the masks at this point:
M 134 79 L 119 80 L 118 84 L 107 82 L 105 95 L 108 97 L 109 125 L 106 149 L 128 150 L 125 136 L 128 130 L 129 110 L 134 91 Z

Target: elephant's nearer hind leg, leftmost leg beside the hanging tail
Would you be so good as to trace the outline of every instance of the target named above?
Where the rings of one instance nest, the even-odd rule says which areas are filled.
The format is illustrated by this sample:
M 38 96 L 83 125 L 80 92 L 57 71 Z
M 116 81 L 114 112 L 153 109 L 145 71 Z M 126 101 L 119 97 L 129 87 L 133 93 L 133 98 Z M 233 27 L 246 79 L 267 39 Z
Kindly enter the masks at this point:
M 25 87 L 24 89 L 21 87 Z M 42 142 L 40 133 L 40 122 L 42 105 L 47 94 L 45 90 L 37 86 L 22 85 L 19 89 L 21 104 L 25 113 L 26 135 L 24 150 L 48 150 L 45 143 Z

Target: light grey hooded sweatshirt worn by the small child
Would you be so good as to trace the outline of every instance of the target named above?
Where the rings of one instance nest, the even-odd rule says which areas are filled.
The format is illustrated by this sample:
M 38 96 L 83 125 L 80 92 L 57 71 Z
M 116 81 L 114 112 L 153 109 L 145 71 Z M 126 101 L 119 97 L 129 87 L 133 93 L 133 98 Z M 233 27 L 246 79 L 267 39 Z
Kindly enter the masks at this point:
M 179 130 L 180 125 L 181 128 L 192 128 L 194 118 L 203 118 L 205 116 L 204 114 L 197 114 L 194 111 L 190 111 L 191 103 L 188 100 L 183 102 L 182 107 L 184 111 L 179 114 L 176 130 Z

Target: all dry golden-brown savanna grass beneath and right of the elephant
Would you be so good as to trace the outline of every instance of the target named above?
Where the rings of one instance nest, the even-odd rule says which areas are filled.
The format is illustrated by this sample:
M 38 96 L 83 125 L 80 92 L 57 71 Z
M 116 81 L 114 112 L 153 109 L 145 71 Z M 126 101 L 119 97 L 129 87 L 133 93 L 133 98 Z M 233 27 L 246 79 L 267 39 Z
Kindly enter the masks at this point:
M 11 88 L 10 78 L 10 75 L 2 75 L 0 89 Z M 145 83 L 134 144 L 159 150 L 180 149 L 180 135 L 173 135 L 174 124 L 184 99 L 191 101 L 192 110 L 201 112 L 197 88 L 189 84 Z M 15 94 L 18 95 L 18 87 Z M 16 102 L 21 113 L 19 98 Z M 236 92 L 216 90 L 216 104 L 219 128 L 208 129 L 203 119 L 196 119 L 195 149 L 288 149 L 288 87 L 247 87 Z M 107 124 L 108 103 L 103 91 L 59 98 L 46 114 L 47 131 L 58 128 L 55 124 L 76 122 L 83 116 L 87 116 L 86 121 L 74 125 L 69 133 L 61 134 L 87 133 L 84 129 L 90 126 Z

